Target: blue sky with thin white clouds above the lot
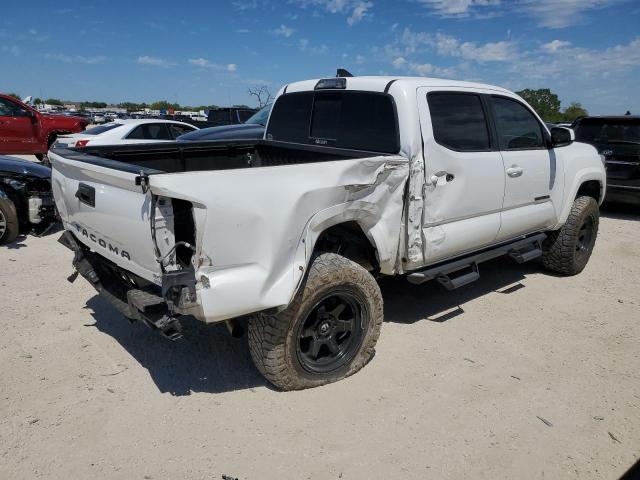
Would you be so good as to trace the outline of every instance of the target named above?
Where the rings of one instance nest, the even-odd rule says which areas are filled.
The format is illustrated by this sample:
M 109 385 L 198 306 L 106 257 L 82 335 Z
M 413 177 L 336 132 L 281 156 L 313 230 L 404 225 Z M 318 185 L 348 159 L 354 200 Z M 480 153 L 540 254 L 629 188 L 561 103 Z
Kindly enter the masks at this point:
M 549 87 L 640 113 L 639 0 L 6 0 L 0 91 L 107 102 L 251 103 L 335 74 Z

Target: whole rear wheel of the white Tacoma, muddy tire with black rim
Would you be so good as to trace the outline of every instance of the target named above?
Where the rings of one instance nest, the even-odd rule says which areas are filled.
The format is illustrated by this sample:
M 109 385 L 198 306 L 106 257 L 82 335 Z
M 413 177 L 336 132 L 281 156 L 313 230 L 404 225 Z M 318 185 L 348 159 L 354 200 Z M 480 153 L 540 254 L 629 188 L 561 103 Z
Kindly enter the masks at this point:
M 293 302 L 249 322 L 258 370 L 282 390 L 300 390 L 354 374 L 373 356 L 382 325 L 374 278 L 345 257 L 316 257 Z

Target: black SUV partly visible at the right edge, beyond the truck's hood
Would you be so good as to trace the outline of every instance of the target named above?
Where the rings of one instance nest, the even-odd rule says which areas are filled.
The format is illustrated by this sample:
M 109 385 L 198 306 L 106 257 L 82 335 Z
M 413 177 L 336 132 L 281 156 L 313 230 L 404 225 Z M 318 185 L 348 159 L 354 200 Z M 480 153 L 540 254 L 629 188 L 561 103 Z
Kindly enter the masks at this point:
M 640 204 L 640 116 L 583 117 L 572 127 L 605 157 L 606 199 Z

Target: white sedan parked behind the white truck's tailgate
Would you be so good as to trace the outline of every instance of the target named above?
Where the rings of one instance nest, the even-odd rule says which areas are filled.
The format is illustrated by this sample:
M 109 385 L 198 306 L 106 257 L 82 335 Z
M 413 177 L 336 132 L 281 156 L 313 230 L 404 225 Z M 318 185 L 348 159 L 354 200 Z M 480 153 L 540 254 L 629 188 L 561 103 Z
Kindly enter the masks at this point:
M 126 145 L 133 143 L 172 142 L 197 127 L 174 120 L 115 120 L 84 132 L 58 137 L 56 146 L 83 148 L 87 145 Z

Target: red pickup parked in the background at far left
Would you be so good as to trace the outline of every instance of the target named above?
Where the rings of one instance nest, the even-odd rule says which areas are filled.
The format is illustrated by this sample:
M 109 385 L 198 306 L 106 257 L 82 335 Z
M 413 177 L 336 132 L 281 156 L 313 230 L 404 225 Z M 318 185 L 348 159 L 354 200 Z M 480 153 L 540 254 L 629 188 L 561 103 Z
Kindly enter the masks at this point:
M 0 155 L 32 154 L 42 160 L 58 135 L 81 132 L 88 123 L 82 117 L 42 114 L 0 93 Z

